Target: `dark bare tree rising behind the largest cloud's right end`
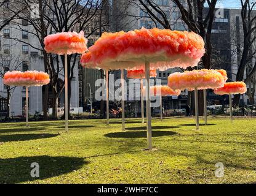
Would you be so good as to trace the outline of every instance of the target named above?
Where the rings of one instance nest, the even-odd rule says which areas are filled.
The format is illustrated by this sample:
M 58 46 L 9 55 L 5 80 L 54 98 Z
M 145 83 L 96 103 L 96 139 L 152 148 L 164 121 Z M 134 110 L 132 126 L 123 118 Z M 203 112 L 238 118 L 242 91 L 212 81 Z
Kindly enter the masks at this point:
M 136 1 L 135 1 L 136 2 Z M 169 15 L 153 0 L 138 0 L 137 6 L 163 28 L 171 29 Z M 180 12 L 180 18 L 190 31 L 199 34 L 205 41 L 206 53 L 202 56 L 202 67 L 210 69 L 212 64 L 212 43 L 210 40 L 217 0 L 172 0 Z M 205 4 L 208 8 L 205 9 Z M 191 67 L 188 70 L 192 70 Z M 191 97 L 191 96 L 190 96 Z M 203 113 L 202 91 L 199 91 L 199 115 Z

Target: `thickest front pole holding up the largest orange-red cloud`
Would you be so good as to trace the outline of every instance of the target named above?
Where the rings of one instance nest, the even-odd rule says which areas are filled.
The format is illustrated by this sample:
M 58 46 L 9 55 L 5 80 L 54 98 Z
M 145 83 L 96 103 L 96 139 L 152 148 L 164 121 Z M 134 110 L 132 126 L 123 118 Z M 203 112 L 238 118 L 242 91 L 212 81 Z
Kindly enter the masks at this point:
M 151 131 L 151 108 L 150 108 L 150 62 L 145 62 L 146 72 L 146 137 L 148 139 L 148 149 L 152 149 Z

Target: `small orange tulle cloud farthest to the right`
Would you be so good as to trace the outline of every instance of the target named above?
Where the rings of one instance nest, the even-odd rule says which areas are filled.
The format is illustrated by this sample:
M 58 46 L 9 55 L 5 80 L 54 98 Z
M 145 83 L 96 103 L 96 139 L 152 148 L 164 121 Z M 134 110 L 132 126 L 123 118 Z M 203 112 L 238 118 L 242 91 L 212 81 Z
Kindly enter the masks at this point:
M 243 81 L 227 82 L 222 88 L 214 89 L 215 94 L 244 94 L 247 91 L 246 83 Z

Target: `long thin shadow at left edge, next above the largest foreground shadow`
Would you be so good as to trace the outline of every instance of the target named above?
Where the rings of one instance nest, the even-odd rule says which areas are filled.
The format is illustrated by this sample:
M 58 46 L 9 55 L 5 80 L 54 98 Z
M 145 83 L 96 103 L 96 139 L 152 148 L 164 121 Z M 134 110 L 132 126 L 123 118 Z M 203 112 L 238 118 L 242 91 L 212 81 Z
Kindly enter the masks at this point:
M 0 135 L 0 142 L 38 140 L 38 139 L 43 139 L 43 138 L 56 137 L 57 135 L 58 134 L 14 134 L 14 135 Z

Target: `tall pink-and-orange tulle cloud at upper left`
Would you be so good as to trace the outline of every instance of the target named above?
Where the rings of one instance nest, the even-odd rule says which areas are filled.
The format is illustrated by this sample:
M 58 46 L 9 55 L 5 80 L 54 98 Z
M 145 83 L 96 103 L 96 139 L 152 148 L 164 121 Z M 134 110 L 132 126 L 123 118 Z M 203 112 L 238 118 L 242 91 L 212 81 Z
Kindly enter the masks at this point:
M 47 53 L 54 53 L 57 55 L 64 55 L 67 53 L 82 54 L 87 49 L 87 39 L 84 37 L 84 32 L 57 32 L 44 38 L 44 50 Z

